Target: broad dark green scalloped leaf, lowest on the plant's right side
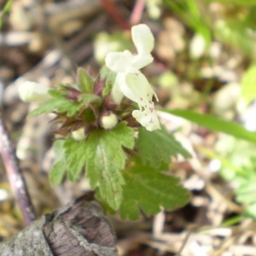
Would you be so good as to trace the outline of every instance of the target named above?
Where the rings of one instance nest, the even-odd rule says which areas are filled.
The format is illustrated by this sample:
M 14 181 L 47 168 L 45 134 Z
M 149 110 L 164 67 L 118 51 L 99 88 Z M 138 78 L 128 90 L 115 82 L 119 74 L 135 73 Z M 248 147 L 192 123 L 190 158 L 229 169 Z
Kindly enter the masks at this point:
M 189 201 L 189 193 L 177 177 L 167 176 L 150 166 L 133 166 L 123 171 L 125 186 L 119 212 L 121 218 L 137 219 L 140 209 L 148 216 L 160 207 L 173 210 Z

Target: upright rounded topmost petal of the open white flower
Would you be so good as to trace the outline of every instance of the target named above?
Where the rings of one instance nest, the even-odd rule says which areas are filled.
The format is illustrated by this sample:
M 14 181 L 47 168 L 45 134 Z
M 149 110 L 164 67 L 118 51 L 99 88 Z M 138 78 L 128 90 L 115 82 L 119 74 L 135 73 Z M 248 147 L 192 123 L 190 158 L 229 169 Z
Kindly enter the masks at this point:
M 150 54 L 154 48 L 154 37 L 149 27 L 139 24 L 131 27 L 131 38 L 139 55 Z

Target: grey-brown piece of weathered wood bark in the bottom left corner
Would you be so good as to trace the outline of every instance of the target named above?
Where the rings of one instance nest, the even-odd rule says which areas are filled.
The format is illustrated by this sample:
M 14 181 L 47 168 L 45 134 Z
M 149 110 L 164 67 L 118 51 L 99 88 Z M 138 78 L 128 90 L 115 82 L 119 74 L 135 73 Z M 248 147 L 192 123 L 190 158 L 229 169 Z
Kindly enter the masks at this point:
M 0 243 L 0 255 L 117 256 L 115 244 L 112 226 L 100 205 L 82 197 Z

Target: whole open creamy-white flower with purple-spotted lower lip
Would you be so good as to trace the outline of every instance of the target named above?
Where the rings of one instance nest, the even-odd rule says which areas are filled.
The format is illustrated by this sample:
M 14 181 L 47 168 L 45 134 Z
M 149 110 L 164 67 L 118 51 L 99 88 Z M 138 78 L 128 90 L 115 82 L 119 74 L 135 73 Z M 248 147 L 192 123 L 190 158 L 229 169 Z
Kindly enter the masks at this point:
M 152 102 L 153 96 L 156 99 L 157 96 L 146 77 L 140 72 L 142 67 L 153 61 L 150 52 L 154 48 L 154 37 L 148 26 L 140 24 L 132 26 L 131 38 L 137 48 L 137 55 L 125 50 L 108 53 L 105 59 L 107 67 L 117 73 L 111 94 L 113 101 L 118 104 L 124 96 L 137 102 L 139 110 L 133 111 L 132 116 L 148 131 L 154 131 L 160 129 Z

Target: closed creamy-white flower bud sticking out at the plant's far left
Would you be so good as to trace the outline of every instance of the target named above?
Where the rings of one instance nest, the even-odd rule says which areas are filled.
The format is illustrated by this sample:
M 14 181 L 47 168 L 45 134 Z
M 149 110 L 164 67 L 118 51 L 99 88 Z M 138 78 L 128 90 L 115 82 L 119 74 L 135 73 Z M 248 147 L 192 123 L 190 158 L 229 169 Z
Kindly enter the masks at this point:
M 49 88 L 43 84 L 26 81 L 18 87 L 20 99 L 23 102 L 44 102 L 49 99 Z

